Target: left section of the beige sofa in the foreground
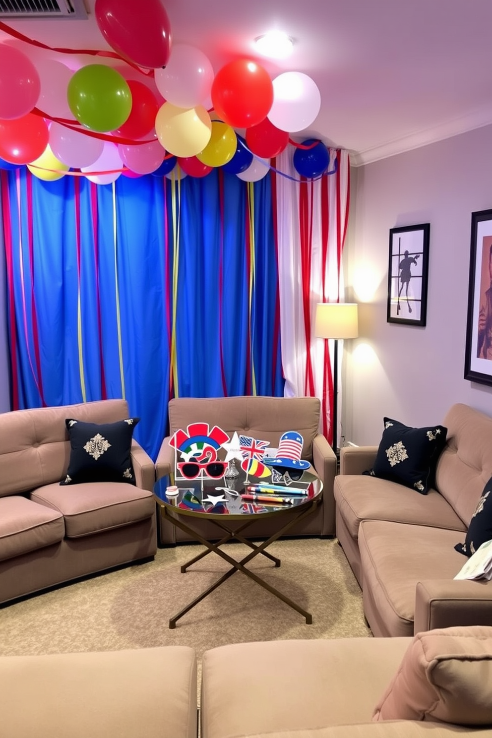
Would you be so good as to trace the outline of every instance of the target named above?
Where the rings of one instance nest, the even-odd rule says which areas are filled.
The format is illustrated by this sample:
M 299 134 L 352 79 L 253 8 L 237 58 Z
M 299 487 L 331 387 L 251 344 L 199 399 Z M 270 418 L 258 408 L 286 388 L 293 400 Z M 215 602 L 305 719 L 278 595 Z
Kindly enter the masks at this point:
M 187 646 L 0 657 L 1 738 L 196 738 Z

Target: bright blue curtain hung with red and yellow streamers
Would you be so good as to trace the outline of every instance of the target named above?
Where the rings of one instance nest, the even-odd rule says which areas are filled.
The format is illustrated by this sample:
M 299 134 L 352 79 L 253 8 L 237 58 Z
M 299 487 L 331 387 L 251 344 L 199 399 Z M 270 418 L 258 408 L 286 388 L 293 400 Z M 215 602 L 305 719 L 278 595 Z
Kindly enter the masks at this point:
M 283 395 L 269 177 L 1 185 L 14 408 L 125 397 L 155 459 L 170 396 Z

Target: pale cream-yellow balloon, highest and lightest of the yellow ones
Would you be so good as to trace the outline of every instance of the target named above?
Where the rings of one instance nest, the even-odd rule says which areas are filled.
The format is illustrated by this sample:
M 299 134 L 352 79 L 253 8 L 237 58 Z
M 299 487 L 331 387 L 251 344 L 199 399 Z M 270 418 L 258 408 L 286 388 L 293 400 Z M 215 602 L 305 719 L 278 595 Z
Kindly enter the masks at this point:
M 169 154 L 195 156 L 210 140 L 212 121 L 204 106 L 178 108 L 164 103 L 156 115 L 156 134 Z

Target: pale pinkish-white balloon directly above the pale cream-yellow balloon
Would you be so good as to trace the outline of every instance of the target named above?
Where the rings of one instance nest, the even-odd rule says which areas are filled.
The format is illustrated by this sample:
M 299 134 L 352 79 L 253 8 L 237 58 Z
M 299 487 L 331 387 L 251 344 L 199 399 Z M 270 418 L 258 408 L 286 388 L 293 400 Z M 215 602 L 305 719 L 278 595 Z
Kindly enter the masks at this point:
M 209 97 L 214 72 L 199 49 L 176 44 L 165 69 L 156 69 L 154 78 L 165 100 L 179 108 L 194 108 Z

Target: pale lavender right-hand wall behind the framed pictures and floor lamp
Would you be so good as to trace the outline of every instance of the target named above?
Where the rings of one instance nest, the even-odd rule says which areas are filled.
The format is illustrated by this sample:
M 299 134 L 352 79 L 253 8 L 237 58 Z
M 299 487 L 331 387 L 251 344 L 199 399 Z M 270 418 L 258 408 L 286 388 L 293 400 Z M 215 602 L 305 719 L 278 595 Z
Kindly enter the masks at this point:
M 443 421 L 464 402 L 492 415 L 492 387 L 463 379 L 471 213 L 492 208 L 492 126 L 352 170 L 346 300 L 360 337 L 345 342 L 342 434 L 378 444 L 384 415 Z M 387 323 L 389 229 L 430 223 L 426 328 Z

